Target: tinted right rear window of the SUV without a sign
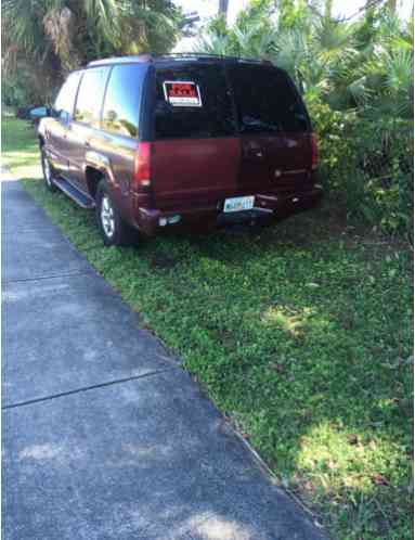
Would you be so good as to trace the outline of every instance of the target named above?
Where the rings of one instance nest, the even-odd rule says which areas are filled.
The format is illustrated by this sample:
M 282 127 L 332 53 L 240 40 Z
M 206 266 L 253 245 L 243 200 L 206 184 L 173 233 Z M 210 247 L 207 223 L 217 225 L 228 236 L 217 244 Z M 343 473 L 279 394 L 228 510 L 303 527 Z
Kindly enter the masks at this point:
M 230 67 L 242 132 L 308 131 L 310 121 L 301 99 L 284 72 L 236 65 Z

